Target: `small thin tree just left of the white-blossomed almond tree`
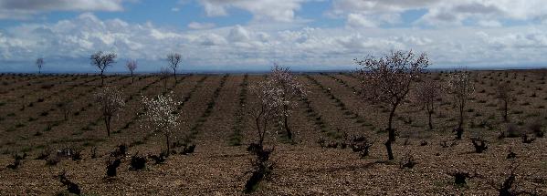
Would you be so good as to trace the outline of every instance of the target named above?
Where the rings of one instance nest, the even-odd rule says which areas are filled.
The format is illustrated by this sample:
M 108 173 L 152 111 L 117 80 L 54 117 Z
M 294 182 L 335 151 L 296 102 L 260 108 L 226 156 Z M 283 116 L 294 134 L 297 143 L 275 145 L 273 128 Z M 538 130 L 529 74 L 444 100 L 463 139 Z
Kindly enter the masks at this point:
M 108 136 L 110 137 L 110 122 L 112 117 L 118 115 L 121 108 L 125 106 L 121 89 L 108 87 L 100 88 L 100 90 L 95 93 L 95 99 L 97 103 L 99 103 L 102 116 L 104 117 L 104 124 Z

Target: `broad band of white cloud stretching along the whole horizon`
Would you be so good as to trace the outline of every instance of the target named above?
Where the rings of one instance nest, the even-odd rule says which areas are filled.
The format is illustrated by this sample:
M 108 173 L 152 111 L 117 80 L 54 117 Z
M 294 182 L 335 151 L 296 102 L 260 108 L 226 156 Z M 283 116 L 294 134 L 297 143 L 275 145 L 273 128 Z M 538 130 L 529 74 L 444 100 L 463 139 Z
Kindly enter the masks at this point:
M 36 57 L 86 61 L 96 50 L 119 57 L 163 59 L 180 52 L 187 64 L 207 66 L 352 65 L 352 59 L 393 49 L 427 52 L 434 65 L 504 65 L 547 62 L 547 26 L 482 28 L 311 28 L 222 26 L 181 31 L 100 20 L 85 13 L 54 24 L 23 24 L 0 29 L 0 61 L 26 62 Z M 477 33 L 478 32 L 478 33 Z M 89 66 L 87 64 L 78 66 Z M 143 65 L 144 69 L 146 65 Z M 155 70 L 149 67 L 148 70 Z

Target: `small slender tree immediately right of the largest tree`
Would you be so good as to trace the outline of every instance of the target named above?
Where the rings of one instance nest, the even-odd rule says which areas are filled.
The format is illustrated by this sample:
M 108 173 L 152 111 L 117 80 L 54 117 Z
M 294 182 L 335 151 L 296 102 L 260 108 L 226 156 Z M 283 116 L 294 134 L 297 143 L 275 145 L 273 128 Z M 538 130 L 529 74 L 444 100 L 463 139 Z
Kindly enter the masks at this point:
M 433 129 L 431 115 L 435 112 L 435 103 L 441 95 L 440 85 L 437 81 L 427 79 L 418 84 L 415 93 L 415 99 L 426 108 L 429 129 Z

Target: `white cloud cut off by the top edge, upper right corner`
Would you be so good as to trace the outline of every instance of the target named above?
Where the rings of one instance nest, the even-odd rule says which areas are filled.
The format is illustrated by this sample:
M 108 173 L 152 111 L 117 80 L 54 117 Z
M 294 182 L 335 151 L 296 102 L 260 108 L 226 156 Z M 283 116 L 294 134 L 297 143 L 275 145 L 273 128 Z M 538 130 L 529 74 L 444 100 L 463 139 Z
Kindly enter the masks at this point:
M 463 25 L 500 26 L 500 20 L 534 20 L 547 18 L 544 0 L 333 0 L 328 15 L 344 17 L 352 26 L 360 18 L 371 24 L 396 24 L 400 15 L 410 10 L 425 10 L 416 24 L 429 26 Z

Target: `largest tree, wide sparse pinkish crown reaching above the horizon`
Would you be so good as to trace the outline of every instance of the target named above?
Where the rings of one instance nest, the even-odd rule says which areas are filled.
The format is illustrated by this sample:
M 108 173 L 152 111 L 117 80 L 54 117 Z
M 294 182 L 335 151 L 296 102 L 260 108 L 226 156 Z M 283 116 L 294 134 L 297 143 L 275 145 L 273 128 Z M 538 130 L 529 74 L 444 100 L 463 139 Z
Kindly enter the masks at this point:
M 363 77 L 364 99 L 391 107 L 386 129 L 389 139 L 385 141 L 385 148 L 388 159 L 393 160 L 391 144 L 395 140 L 395 129 L 392 127 L 395 110 L 403 103 L 411 84 L 429 65 L 429 59 L 425 53 L 416 56 L 412 51 L 399 50 L 384 57 L 355 59 L 355 63 L 363 67 L 359 73 Z

